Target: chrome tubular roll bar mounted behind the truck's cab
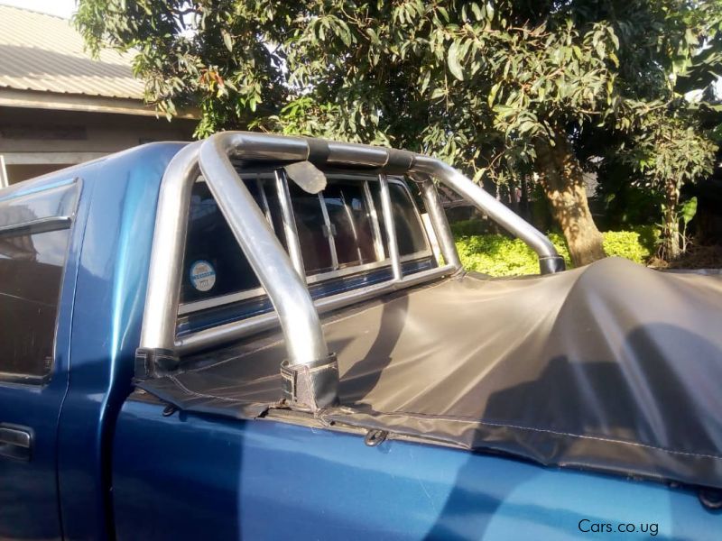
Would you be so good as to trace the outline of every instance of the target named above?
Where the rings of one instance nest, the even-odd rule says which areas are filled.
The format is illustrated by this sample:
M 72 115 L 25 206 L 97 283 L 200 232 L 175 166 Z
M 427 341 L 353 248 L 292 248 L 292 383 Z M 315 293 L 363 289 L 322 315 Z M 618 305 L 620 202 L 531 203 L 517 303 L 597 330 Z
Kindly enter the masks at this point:
M 317 165 L 357 165 L 378 172 L 393 279 L 314 302 L 301 273 L 301 254 L 292 253 L 292 261 L 285 252 L 255 199 L 245 188 L 231 159 L 242 160 L 241 163 L 251 160 L 310 160 Z M 236 241 L 271 300 L 274 312 L 176 336 L 190 192 L 201 172 Z M 406 173 L 421 183 L 421 191 L 445 263 L 409 276 L 403 275 L 386 180 L 386 174 Z M 564 261 L 549 239 L 496 201 L 483 188 L 440 160 L 408 151 L 355 143 L 264 133 L 217 133 L 203 142 L 184 147 L 171 160 L 163 175 L 138 356 L 143 352 L 143 362 L 151 357 L 177 359 L 180 354 L 224 344 L 280 324 L 288 353 L 282 375 L 288 372 L 289 367 L 292 370 L 305 368 L 307 373 L 311 368 L 317 371 L 325 369 L 332 356 L 329 357 L 319 313 L 462 271 L 449 223 L 431 177 L 458 192 L 531 246 L 540 256 L 542 273 L 564 269 Z M 279 191 L 279 197 L 287 198 L 287 190 L 286 195 Z M 284 214 L 290 214 L 290 210 Z M 284 220 L 289 219 L 289 216 L 284 217 Z M 327 363 L 321 365 L 321 362 Z M 314 385 L 311 382 L 312 390 L 317 389 Z M 328 386 L 324 388 L 326 395 L 329 395 L 326 392 L 328 390 Z M 335 396 L 335 390 L 332 394 Z M 326 405 L 330 403 L 329 396 L 324 400 Z

